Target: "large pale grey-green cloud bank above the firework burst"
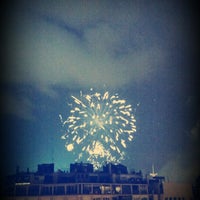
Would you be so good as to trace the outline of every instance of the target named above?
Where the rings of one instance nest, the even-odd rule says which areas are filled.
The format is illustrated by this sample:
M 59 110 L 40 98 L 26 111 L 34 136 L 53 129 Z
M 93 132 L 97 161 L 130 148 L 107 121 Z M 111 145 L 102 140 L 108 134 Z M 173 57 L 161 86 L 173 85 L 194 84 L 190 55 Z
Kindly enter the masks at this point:
M 143 4 L 32 2 L 23 8 L 13 14 L 8 34 L 7 81 L 44 91 L 53 85 L 120 88 L 166 66 L 169 44 L 160 39 L 168 33 L 165 15 L 157 33 L 156 16 L 149 16 L 152 27 L 142 17 Z

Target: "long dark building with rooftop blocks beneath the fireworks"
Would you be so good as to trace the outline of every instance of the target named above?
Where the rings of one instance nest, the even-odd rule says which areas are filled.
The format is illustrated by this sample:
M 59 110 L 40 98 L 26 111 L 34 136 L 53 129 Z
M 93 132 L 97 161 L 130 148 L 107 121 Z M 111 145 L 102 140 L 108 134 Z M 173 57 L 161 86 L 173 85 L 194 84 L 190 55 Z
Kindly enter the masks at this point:
M 173 190 L 173 188 L 176 188 Z M 177 190 L 178 188 L 178 190 Z M 2 197 L 7 200 L 192 200 L 192 190 L 165 182 L 162 176 L 128 173 L 121 164 L 108 163 L 94 171 L 89 163 L 74 163 L 70 172 L 54 171 L 54 164 L 38 165 L 36 172 L 7 177 Z M 186 195 L 187 193 L 187 195 Z

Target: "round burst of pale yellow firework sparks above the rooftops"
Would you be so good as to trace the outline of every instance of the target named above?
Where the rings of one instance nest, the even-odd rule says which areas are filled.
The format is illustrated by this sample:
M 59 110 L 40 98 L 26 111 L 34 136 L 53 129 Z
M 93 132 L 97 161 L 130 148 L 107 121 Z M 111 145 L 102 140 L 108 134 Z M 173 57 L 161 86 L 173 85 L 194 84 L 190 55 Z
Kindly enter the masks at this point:
M 67 128 L 61 137 L 67 140 L 67 151 L 76 154 L 76 161 L 87 158 L 96 168 L 107 161 L 123 160 L 127 142 L 133 140 L 136 132 L 132 106 L 109 92 L 81 92 L 79 98 L 71 97 L 70 116 L 64 121 L 60 115 Z

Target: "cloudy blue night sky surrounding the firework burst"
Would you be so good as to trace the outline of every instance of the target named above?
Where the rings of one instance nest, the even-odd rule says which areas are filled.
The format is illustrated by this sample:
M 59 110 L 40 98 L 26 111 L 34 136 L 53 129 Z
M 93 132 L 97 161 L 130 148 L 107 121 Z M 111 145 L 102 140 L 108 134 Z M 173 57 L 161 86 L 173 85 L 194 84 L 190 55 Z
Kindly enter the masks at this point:
M 16 1 L 1 12 L 1 165 L 67 170 L 71 95 L 118 93 L 137 131 L 122 164 L 173 181 L 199 170 L 199 30 L 189 1 Z M 198 36 L 198 37 L 197 37 Z M 76 151 L 76 149 L 75 149 Z M 83 160 L 84 161 L 84 160 Z

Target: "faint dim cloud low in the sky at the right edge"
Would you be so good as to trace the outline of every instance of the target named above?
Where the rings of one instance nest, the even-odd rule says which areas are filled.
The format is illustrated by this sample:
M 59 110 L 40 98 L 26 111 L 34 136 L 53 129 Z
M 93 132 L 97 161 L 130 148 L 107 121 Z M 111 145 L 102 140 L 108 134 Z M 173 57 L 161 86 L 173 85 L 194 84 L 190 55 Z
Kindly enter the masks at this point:
M 200 120 L 191 129 L 187 143 L 181 152 L 175 153 L 171 160 L 162 167 L 162 174 L 173 181 L 194 182 L 200 174 L 199 167 L 199 129 Z M 178 143 L 177 143 L 178 145 Z

